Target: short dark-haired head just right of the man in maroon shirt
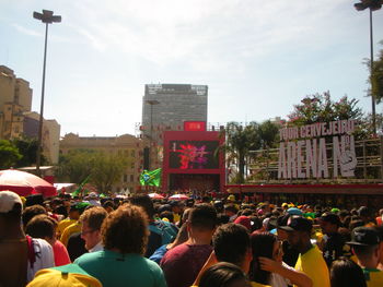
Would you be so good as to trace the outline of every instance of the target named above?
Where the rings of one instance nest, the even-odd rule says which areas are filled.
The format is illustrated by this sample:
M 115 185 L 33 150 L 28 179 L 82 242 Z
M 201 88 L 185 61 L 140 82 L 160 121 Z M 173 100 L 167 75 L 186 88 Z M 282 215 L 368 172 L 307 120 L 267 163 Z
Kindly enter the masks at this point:
M 218 261 L 233 263 L 247 273 L 252 260 L 249 235 L 246 227 L 224 224 L 217 228 L 212 246 Z

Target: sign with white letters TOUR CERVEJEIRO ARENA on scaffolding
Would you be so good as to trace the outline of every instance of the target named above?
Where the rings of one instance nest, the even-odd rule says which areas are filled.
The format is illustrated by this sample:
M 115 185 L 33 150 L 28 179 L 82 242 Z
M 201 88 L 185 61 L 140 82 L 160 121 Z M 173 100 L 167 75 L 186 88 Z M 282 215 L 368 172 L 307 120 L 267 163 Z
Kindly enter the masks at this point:
M 317 122 L 279 130 L 279 179 L 328 178 L 328 162 L 333 177 L 353 177 L 357 167 L 355 120 Z M 327 158 L 326 141 L 332 136 L 332 158 Z

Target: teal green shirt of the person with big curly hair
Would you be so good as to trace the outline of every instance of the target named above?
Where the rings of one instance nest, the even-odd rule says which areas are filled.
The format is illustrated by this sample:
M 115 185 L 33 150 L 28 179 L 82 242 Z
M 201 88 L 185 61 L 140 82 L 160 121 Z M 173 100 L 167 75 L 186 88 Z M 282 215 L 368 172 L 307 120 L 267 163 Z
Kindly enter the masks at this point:
M 85 253 L 74 261 L 103 287 L 166 287 L 160 266 L 139 254 L 120 254 L 109 250 Z

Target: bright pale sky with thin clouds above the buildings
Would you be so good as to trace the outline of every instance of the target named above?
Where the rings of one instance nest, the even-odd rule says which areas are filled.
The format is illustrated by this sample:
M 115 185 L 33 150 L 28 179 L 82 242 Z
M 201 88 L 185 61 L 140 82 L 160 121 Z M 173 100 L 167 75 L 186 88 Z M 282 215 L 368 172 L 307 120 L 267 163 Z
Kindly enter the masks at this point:
M 30 82 L 39 111 L 45 26 L 32 15 L 62 16 L 49 25 L 44 106 L 62 136 L 136 134 L 150 83 L 208 85 L 212 123 L 287 118 L 326 91 L 371 112 L 369 11 L 355 2 L 0 0 L 0 64 Z M 383 9 L 373 27 L 376 55 Z

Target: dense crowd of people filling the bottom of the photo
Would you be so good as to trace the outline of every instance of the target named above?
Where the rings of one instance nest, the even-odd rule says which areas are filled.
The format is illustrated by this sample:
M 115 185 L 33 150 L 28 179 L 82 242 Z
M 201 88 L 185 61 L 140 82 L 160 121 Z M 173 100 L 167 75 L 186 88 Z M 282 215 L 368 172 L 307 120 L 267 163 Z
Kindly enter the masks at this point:
M 0 286 L 383 286 L 383 210 L 0 191 Z

